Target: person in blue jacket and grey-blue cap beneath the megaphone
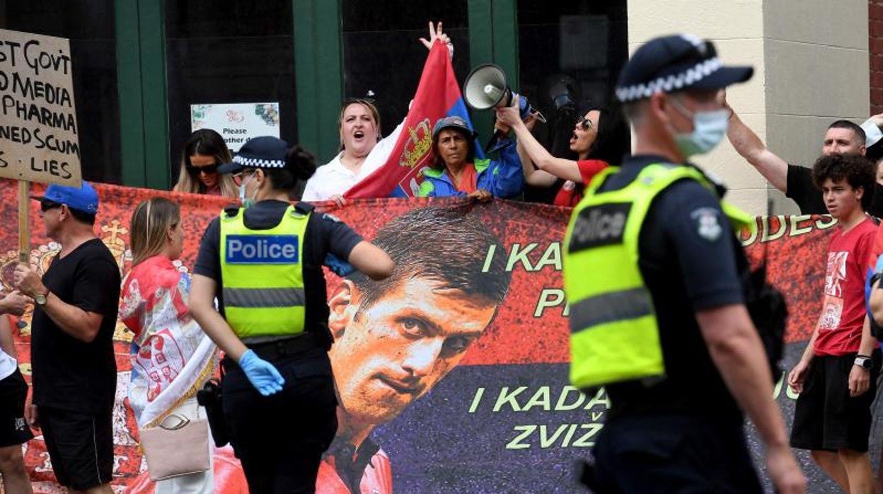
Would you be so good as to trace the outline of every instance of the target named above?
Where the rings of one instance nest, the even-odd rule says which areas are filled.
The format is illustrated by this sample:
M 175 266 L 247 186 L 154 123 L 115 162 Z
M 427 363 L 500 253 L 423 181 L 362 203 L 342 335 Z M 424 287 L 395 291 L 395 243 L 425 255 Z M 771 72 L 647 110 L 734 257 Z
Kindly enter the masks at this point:
M 508 199 L 522 193 L 525 176 L 515 141 L 504 140 L 508 142 L 497 160 L 475 159 L 476 135 L 461 117 L 440 118 L 435 123 L 434 163 L 423 172 L 420 197 L 468 196 L 489 201 L 492 197 Z

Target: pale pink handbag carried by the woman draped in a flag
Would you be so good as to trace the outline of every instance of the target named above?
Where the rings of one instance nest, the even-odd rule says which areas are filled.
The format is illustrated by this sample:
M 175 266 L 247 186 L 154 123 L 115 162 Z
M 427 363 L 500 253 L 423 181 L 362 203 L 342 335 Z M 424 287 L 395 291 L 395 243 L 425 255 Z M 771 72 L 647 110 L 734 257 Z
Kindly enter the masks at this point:
M 156 427 L 141 429 L 141 449 L 147 457 L 150 480 L 204 472 L 208 455 L 208 421 L 170 414 Z

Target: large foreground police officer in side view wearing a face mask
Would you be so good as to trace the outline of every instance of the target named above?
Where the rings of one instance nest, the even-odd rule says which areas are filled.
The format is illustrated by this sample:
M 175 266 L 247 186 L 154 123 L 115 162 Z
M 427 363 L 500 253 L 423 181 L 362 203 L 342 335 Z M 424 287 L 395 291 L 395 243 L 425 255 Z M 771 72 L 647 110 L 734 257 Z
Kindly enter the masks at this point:
M 623 67 L 635 155 L 592 179 L 565 239 L 570 380 L 611 403 L 583 477 L 597 492 L 762 492 L 743 412 L 776 488 L 805 489 L 737 274 L 750 218 L 687 161 L 724 138 L 723 90 L 751 74 L 687 34 Z

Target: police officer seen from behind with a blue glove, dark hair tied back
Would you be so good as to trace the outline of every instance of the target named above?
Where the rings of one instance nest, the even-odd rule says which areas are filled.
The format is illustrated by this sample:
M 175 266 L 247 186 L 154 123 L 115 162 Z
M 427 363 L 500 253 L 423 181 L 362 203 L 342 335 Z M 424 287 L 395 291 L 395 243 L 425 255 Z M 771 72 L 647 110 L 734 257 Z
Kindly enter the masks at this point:
M 253 493 L 313 492 L 335 437 L 323 262 L 349 262 L 374 279 L 394 267 L 335 217 L 291 204 L 289 192 L 315 168 L 298 146 L 247 141 L 218 168 L 238 176 L 242 207 L 208 225 L 193 270 L 190 310 L 226 353 L 223 412 Z

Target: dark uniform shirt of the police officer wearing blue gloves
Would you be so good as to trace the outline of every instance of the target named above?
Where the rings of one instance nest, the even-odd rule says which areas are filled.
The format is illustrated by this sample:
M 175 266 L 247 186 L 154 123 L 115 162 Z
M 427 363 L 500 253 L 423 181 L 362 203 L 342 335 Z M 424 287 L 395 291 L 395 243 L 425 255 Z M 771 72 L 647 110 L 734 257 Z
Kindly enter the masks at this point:
M 268 230 L 282 221 L 285 201 L 260 201 L 245 209 L 245 226 L 251 230 Z M 295 206 L 301 213 L 313 210 L 306 202 Z M 240 213 L 241 214 L 241 213 Z M 362 237 L 352 229 L 327 214 L 313 213 L 306 225 L 304 252 L 301 257 L 304 270 L 304 294 L 306 298 L 305 328 L 314 331 L 328 326 L 328 291 L 322 262 L 330 252 L 340 259 L 348 259 L 353 247 Z M 218 284 L 218 309 L 223 312 L 223 283 L 221 280 L 221 218 L 216 217 L 208 224 L 200 242 L 200 253 L 196 257 L 193 273 L 210 277 Z

